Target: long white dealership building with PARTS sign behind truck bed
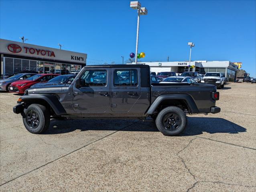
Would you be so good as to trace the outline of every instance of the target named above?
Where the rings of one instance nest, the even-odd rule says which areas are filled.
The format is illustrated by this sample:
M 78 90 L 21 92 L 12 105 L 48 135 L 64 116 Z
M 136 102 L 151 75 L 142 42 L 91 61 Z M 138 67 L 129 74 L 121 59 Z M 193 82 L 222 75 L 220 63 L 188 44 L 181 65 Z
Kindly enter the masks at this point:
M 134 64 L 134 63 L 132 63 Z M 182 73 L 189 71 L 189 61 L 177 61 L 177 62 L 138 62 L 140 65 L 149 65 L 151 72 L 175 72 Z M 199 74 L 205 74 L 207 72 L 221 72 L 225 73 L 225 77 L 228 77 L 229 81 L 234 82 L 236 80 L 236 72 L 238 66 L 230 61 L 191 61 L 191 66 L 195 66 L 190 71 L 199 72 Z

